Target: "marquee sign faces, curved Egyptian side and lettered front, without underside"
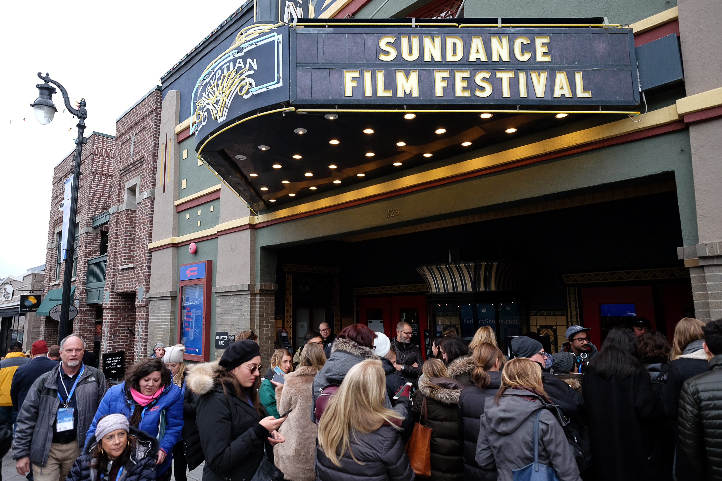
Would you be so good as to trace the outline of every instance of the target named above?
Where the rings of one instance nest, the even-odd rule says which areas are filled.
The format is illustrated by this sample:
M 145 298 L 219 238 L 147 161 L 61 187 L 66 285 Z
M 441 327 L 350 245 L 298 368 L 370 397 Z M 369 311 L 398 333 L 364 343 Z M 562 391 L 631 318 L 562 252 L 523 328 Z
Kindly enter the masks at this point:
M 193 91 L 196 144 L 282 103 L 523 110 L 640 98 L 629 28 L 252 25 L 219 49 Z

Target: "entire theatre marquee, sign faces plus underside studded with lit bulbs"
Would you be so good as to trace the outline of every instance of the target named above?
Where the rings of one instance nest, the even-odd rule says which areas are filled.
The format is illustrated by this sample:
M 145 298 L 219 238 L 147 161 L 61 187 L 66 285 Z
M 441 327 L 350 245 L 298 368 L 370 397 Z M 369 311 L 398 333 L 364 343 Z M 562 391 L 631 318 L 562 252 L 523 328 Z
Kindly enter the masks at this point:
M 246 27 L 195 81 L 196 152 L 266 210 L 640 110 L 629 28 L 466 21 Z

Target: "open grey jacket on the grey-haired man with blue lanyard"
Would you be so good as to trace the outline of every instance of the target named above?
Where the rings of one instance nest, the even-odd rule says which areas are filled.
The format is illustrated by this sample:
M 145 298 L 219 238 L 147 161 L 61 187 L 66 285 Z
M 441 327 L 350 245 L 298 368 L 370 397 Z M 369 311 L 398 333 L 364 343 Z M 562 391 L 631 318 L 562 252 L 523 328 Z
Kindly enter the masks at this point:
M 12 443 L 12 459 L 30 456 L 30 462 L 38 466 L 48 463 L 48 453 L 53 442 L 53 423 L 58 412 L 58 363 L 51 371 L 40 376 L 27 392 L 17 415 L 17 429 Z M 85 366 L 75 388 L 78 409 L 77 442 L 80 451 L 85 446 L 85 434 L 90 428 L 97 406 L 105 394 L 103 372 Z

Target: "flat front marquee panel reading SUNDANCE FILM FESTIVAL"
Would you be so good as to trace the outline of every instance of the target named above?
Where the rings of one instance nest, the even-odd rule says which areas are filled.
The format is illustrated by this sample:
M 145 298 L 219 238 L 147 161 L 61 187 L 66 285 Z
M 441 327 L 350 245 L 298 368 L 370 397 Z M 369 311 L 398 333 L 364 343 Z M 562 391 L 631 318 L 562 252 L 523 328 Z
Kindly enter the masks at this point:
M 639 103 L 630 29 L 323 30 L 295 33 L 295 102 Z

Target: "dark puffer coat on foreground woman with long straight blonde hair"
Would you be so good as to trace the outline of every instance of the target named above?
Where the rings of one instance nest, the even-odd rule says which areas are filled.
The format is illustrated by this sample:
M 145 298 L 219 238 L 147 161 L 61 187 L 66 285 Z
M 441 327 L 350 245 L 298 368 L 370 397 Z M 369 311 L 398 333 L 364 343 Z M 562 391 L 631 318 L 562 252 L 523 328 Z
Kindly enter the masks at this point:
M 349 444 L 363 464 L 347 451 L 339 459 L 341 466 L 336 466 L 316 444 L 316 481 L 414 481 L 414 470 L 396 428 L 382 425 L 370 433 L 352 433 Z M 203 479 L 206 481 L 205 476 Z

